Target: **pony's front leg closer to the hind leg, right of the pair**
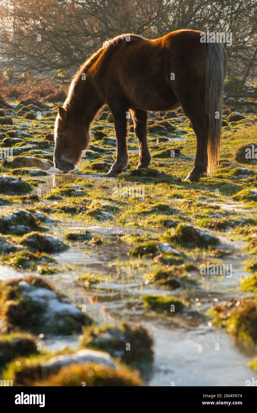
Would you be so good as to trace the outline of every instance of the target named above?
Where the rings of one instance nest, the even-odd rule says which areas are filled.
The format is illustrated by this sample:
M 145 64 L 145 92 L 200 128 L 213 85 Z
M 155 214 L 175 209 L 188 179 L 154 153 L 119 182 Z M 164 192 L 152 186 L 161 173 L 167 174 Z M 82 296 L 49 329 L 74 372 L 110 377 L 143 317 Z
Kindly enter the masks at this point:
M 130 110 L 134 122 L 134 131 L 139 144 L 139 163 L 137 169 L 147 168 L 151 155 L 147 143 L 147 112 L 145 110 Z

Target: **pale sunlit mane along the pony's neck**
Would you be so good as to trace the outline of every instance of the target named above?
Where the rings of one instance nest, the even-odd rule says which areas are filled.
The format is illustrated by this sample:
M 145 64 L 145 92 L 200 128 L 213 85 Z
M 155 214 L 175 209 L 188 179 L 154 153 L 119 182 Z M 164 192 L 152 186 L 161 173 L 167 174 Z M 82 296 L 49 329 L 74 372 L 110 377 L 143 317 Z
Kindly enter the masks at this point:
M 129 41 L 127 40 L 128 38 L 130 39 Z M 69 104 L 69 102 L 71 101 L 74 95 L 74 90 L 76 88 L 76 85 L 78 85 L 82 74 L 87 73 L 88 69 L 92 66 L 92 64 L 94 64 L 97 61 L 97 59 L 99 58 L 99 56 L 104 50 L 111 50 L 113 47 L 117 47 L 119 45 L 123 45 L 124 47 L 130 44 L 131 41 L 134 42 L 134 40 L 138 40 L 138 39 L 147 40 L 143 36 L 138 36 L 137 34 L 133 34 L 133 33 L 121 34 L 120 36 L 116 36 L 112 39 L 105 40 L 105 42 L 97 50 L 97 52 L 93 53 L 83 64 L 81 64 L 79 69 L 73 75 L 71 84 L 67 92 L 66 104 Z

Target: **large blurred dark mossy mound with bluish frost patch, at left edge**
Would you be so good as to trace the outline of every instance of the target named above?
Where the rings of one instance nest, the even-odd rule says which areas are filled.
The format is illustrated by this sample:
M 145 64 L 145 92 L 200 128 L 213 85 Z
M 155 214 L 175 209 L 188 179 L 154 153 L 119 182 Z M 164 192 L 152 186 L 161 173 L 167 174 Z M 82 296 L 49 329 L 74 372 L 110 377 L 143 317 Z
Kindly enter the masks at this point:
M 92 320 L 66 303 L 39 277 L 17 278 L 0 286 L 1 316 L 9 329 L 19 327 L 45 334 L 80 332 Z

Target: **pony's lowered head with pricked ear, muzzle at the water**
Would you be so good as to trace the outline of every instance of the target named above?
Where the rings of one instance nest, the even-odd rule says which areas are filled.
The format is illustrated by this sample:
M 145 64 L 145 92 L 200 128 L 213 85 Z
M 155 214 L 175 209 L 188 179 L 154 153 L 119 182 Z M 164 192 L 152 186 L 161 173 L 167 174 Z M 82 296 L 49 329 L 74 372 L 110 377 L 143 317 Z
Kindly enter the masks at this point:
M 64 107 L 58 106 L 54 141 L 55 168 L 63 172 L 72 171 L 80 161 L 82 151 L 88 146 L 88 129 L 82 123 L 72 121 Z

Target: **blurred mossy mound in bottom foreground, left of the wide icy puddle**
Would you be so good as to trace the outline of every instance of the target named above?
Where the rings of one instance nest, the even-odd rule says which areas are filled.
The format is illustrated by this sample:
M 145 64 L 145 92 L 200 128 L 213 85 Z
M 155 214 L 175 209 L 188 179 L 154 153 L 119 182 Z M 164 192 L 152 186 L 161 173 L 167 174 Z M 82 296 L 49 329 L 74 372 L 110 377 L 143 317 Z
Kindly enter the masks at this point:
M 92 326 L 85 330 L 81 339 L 83 347 L 104 350 L 125 363 L 150 361 L 153 357 L 152 339 L 141 325 Z

